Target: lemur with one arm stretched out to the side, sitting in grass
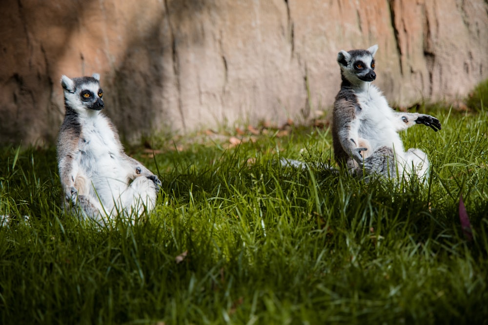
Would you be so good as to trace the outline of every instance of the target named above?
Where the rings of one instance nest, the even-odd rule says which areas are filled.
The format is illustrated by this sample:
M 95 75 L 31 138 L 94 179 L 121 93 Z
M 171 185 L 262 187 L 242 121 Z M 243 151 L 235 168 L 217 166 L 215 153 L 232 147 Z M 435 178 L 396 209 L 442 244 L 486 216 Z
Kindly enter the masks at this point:
M 385 96 L 371 81 L 376 78 L 374 55 L 378 45 L 367 50 L 341 51 L 341 90 L 333 111 L 332 137 L 337 162 L 349 172 L 388 178 L 417 175 L 428 177 L 427 154 L 420 149 L 405 152 L 399 131 L 425 124 L 434 131 L 441 123 L 433 116 L 393 111 Z M 363 175 L 363 171 L 366 175 Z

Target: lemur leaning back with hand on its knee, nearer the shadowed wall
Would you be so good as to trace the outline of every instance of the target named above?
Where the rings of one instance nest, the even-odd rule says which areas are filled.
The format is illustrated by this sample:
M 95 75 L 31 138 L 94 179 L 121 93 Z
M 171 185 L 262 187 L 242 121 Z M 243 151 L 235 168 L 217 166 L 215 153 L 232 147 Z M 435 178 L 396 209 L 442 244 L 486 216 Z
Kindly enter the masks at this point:
M 61 77 L 66 113 L 58 137 L 58 167 L 67 204 L 83 217 L 152 210 L 161 181 L 127 156 L 104 107 L 100 75 Z

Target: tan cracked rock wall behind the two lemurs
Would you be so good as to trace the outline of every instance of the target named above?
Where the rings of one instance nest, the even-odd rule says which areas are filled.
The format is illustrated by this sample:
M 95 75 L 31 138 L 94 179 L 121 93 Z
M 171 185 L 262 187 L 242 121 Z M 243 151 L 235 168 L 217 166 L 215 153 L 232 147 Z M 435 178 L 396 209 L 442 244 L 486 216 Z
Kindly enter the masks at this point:
M 4 0 L 0 142 L 56 138 L 60 78 L 100 73 L 125 139 L 328 109 L 340 50 L 379 45 L 391 104 L 488 78 L 486 0 Z

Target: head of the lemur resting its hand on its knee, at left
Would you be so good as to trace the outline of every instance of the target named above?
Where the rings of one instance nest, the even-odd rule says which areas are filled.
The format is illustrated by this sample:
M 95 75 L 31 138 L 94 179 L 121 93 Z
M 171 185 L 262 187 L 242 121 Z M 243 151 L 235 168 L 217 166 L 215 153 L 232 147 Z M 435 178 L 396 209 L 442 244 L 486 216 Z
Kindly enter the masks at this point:
M 64 90 L 66 107 L 81 113 L 85 112 L 85 110 L 100 111 L 104 106 L 99 74 L 73 79 L 63 75 L 61 77 L 61 86 Z

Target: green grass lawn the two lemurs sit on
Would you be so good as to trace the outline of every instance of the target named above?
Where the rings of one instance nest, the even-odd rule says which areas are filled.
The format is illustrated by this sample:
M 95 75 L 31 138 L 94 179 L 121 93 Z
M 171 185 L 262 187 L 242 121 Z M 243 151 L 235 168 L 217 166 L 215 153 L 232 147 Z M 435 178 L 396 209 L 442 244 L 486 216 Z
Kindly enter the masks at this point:
M 30 219 L 0 227 L 0 322 L 488 324 L 487 115 L 433 115 L 440 132 L 403 134 L 427 186 L 277 164 L 333 163 L 327 129 L 132 147 L 162 194 L 104 228 L 61 213 L 55 148 L 2 148 L 0 214 Z

